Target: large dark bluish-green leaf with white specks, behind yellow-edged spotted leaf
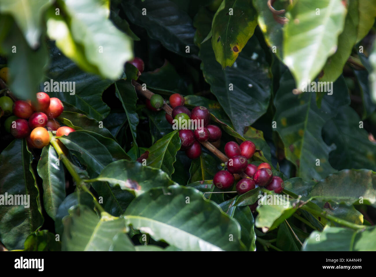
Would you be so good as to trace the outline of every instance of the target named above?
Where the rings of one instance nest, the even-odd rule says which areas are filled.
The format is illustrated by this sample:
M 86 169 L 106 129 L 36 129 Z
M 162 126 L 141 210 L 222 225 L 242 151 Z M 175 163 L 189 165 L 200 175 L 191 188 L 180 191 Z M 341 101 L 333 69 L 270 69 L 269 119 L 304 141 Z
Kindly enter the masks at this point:
M 206 19 L 203 17 L 210 16 L 200 11 L 195 18 L 196 44 L 207 34 L 205 31 L 208 29 L 208 23 L 204 23 Z M 270 76 L 264 50 L 253 36 L 239 54 L 236 63 L 225 70 L 222 70 L 215 60 L 209 41 L 200 44 L 199 57 L 211 92 L 231 119 L 235 131 L 242 135 L 244 127 L 251 125 L 263 115 L 269 105 Z

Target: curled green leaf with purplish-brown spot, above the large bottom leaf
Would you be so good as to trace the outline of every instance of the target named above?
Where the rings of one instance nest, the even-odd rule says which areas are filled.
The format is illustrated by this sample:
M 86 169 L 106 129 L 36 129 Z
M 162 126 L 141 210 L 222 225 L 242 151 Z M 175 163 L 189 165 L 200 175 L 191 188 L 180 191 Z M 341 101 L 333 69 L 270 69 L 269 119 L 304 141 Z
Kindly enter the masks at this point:
M 150 188 L 175 184 L 164 171 L 127 160 L 107 165 L 93 181 L 109 182 L 111 186 L 119 185 L 122 190 L 134 191 L 136 195 L 143 194 Z

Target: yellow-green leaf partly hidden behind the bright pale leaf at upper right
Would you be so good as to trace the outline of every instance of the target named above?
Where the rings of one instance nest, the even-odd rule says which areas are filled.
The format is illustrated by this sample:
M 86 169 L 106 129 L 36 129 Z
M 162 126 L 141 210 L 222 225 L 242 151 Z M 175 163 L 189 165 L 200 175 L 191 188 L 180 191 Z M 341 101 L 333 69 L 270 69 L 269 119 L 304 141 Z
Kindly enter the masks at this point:
M 338 37 L 337 51 L 327 59 L 320 81 L 334 82 L 340 77 L 356 42 L 359 21 L 358 0 L 350 0 L 347 11 L 343 32 Z

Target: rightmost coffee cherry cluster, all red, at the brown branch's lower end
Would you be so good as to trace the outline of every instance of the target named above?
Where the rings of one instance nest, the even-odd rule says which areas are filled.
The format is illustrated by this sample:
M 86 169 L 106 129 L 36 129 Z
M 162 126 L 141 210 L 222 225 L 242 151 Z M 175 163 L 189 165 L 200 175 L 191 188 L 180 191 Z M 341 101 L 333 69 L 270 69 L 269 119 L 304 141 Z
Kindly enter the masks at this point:
M 248 163 L 248 159 L 252 158 L 255 150 L 256 147 L 252 141 L 244 141 L 240 145 L 235 141 L 227 142 L 224 146 L 224 152 L 229 157 L 226 165 L 227 170 L 218 171 L 214 175 L 214 185 L 223 190 L 229 188 L 235 181 L 233 174 L 244 172 L 247 177 L 241 179 L 236 185 L 238 194 L 253 190 L 256 186 L 281 193 L 285 187 L 284 181 L 278 176 L 273 176 L 267 162 L 263 162 L 259 166 Z

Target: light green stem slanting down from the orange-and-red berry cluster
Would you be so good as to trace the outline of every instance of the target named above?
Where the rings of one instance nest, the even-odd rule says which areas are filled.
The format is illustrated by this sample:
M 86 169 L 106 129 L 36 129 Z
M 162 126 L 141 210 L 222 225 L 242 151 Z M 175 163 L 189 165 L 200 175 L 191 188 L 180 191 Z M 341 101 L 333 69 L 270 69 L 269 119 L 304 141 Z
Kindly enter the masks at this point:
M 105 209 L 102 208 L 102 206 L 99 204 L 99 202 L 97 201 L 97 199 L 94 196 L 94 194 L 92 194 L 91 191 L 85 186 L 84 180 L 82 180 L 81 177 L 76 172 L 76 170 L 74 170 L 73 165 L 71 164 L 71 162 L 69 161 L 69 159 L 67 158 L 67 156 L 65 156 L 63 150 L 61 149 L 61 147 L 59 146 L 58 142 L 56 141 L 56 138 L 52 135 L 51 132 L 49 132 L 49 133 L 50 133 L 50 144 L 53 146 L 53 148 L 55 149 L 56 153 L 58 153 L 59 160 L 61 160 L 63 162 L 63 164 L 65 165 L 65 168 L 67 168 L 68 172 L 71 174 L 74 182 L 76 182 L 77 188 L 79 189 L 77 191 L 77 194 L 79 194 L 80 190 L 89 193 L 93 197 L 93 202 L 94 202 L 94 205 L 96 206 L 96 208 L 101 213 L 104 212 Z M 78 200 L 79 199 L 80 199 L 80 197 L 78 196 Z

